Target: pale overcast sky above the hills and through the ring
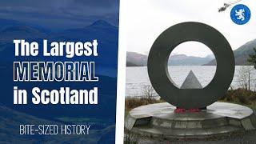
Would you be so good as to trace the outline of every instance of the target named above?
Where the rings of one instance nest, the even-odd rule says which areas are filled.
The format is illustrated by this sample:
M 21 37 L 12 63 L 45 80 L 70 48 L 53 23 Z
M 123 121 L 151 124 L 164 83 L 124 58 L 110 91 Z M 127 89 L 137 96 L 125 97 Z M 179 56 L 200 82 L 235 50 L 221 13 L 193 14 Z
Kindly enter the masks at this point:
M 232 0 L 231 0 L 232 1 Z M 238 26 L 230 19 L 230 6 L 218 13 L 218 8 L 230 0 L 129 0 L 126 1 L 126 33 L 128 51 L 147 54 L 154 40 L 162 31 L 179 22 L 203 22 L 220 31 L 230 42 L 232 49 L 256 38 L 256 2 L 242 0 L 249 6 L 250 22 Z M 188 49 L 189 47 L 189 49 Z M 204 57 L 211 54 L 198 42 L 183 43 L 175 54 Z M 173 53 L 172 53 L 173 54 Z

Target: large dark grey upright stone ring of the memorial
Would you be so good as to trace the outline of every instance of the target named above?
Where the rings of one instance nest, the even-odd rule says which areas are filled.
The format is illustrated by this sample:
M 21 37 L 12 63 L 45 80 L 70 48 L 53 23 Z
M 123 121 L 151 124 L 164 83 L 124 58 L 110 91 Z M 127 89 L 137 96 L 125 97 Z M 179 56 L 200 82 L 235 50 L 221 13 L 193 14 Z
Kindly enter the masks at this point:
M 212 81 L 202 89 L 179 89 L 168 73 L 168 58 L 182 42 L 202 42 L 212 50 L 217 62 Z M 209 106 L 228 90 L 234 76 L 234 54 L 226 38 L 213 27 L 200 22 L 171 26 L 154 41 L 148 62 L 148 74 L 154 90 L 170 104 L 186 109 Z

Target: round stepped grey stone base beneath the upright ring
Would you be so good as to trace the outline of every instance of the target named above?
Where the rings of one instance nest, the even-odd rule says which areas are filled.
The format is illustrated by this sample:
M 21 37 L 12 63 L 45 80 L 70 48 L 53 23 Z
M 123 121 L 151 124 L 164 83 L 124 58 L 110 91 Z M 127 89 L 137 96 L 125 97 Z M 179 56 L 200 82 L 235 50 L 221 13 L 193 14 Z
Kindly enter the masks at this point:
M 253 110 L 246 106 L 215 102 L 200 112 L 174 113 L 167 102 L 139 106 L 126 117 L 126 129 L 141 138 L 211 138 L 256 128 Z

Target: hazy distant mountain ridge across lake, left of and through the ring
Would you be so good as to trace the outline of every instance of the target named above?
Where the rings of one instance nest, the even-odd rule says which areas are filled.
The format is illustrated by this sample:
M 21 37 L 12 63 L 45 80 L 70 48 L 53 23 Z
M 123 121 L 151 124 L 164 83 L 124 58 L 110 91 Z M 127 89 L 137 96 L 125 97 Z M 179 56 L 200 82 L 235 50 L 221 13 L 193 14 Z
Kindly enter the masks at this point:
M 171 66 L 186 66 L 186 65 L 194 65 L 200 66 L 210 62 L 212 58 L 206 57 L 194 57 L 187 56 L 185 54 L 175 54 L 170 56 L 170 61 L 168 62 Z M 147 55 L 138 54 L 135 52 L 127 52 L 126 55 L 126 66 L 146 66 Z

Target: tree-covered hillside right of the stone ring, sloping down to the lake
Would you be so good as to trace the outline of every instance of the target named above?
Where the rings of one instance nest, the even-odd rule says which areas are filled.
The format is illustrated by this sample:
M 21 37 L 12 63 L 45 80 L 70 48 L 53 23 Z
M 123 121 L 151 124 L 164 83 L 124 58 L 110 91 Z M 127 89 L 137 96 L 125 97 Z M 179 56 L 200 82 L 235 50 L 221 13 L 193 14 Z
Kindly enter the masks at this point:
M 237 50 L 234 50 L 234 60 L 235 65 L 248 65 L 247 58 L 249 54 L 254 54 L 254 47 L 256 47 L 256 39 L 246 42 L 244 45 L 240 46 Z M 212 60 L 206 65 L 213 66 L 216 65 L 216 61 Z

